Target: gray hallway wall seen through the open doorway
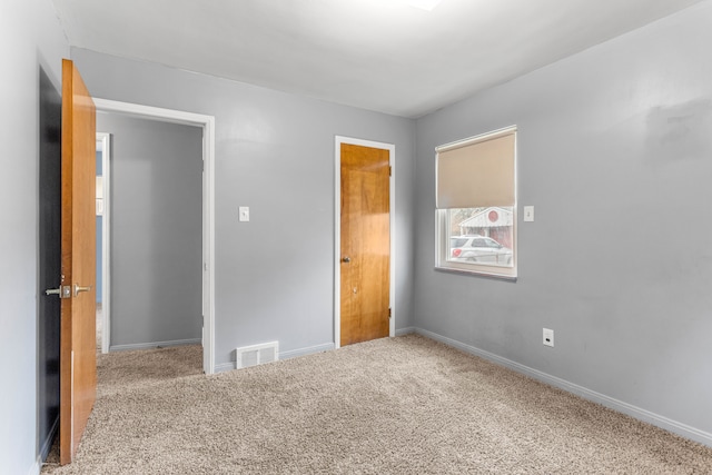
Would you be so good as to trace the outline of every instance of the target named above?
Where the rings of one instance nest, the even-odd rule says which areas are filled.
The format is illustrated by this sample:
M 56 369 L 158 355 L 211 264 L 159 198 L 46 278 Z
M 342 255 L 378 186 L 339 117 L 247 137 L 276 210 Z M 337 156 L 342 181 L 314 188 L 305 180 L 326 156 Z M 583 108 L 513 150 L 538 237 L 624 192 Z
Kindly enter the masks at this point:
M 111 133 L 111 348 L 200 340 L 202 129 L 98 113 Z

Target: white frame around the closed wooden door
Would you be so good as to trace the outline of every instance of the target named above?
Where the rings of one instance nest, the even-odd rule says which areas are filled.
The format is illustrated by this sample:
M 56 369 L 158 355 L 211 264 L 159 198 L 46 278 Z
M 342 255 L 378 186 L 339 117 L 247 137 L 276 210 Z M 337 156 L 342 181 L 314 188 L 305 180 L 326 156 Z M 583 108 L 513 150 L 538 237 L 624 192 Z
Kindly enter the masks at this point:
M 388 321 L 388 336 L 396 334 L 396 309 L 395 300 L 395 179 L 396 179 L 396 146 L 394 144 L 378 142 L 373 140 L 357 139 L 353 137 L 335 136 L 335 171 L 334 171 L 334 348 L 342 346 L 342 144 L 356 145 L 360 147 L 377 148 L 388 150 L 388 165 L 390 166 L 390 178 L 388 180 L 388 220 L 390 236 L 390 288 L 388 289 L 388 306 L 390 307 L 390 319 Z

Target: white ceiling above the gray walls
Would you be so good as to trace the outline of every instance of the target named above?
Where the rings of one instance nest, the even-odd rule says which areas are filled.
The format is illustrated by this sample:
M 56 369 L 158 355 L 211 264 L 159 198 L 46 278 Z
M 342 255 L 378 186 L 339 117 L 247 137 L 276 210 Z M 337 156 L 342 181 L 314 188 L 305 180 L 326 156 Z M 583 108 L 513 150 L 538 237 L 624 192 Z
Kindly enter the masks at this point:
M 71 46 L 404 117 L 701 0 L 53 0 Z

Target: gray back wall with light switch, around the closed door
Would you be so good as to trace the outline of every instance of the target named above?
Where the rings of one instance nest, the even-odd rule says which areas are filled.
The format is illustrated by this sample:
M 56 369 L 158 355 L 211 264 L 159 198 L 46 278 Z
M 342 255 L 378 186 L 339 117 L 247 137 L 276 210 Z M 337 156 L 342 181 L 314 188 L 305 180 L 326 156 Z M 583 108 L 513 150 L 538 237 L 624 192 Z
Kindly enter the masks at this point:
M 412 326 L 413 120 L 72 49 L 95 97 L 216 118 L 216 364 L 334 342 L 334 137 L 396 146 L 396 327 Z M 238 206 L 250 222 L 238 222 Z

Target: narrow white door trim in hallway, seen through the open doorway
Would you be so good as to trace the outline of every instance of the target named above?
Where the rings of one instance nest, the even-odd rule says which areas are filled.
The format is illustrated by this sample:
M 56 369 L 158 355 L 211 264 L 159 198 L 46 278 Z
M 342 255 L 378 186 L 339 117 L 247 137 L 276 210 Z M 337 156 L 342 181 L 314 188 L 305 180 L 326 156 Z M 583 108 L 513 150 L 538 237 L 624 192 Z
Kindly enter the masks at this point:
M 96 101 L 95 101 L 96 103 Z M 101 209 L 101 353 L 109 353 L 111 343 L 111 133 L 97 132 L 97 144 L 101 142 L 101 187 L 103 189 Z

